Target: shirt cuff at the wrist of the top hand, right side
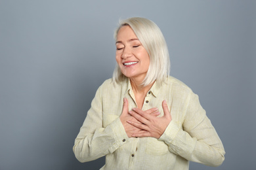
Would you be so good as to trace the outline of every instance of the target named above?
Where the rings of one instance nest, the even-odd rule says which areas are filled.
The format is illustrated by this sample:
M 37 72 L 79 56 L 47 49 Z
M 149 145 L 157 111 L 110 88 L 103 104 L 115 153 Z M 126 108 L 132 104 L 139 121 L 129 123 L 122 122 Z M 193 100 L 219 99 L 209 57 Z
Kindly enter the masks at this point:
M 175 139 L 179 130 L 180 130 L 180 128 L 179 128 L 177 122 L 171 120 L 171 122 L 166 127 L 165 131 L 163 132 L 163 134 L 161 135 L 161 137 L 158 140 L 164 141 L 167 143 L 171 143 L 171 141 L 173 141 L 173 139 Z

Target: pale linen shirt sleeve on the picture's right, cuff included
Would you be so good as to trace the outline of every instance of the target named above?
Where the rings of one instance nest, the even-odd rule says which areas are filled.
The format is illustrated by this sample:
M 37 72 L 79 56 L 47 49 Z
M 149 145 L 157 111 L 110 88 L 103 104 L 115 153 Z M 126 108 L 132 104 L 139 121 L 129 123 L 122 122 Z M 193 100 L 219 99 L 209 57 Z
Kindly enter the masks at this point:
M 169 151 L 186 160 L 209 166 L 219 166 L 224 161 L 224 148 L 215 128 L 200 105 L 198 95 L 190 93 L 182 127 L 171 121 L 160 139 Z

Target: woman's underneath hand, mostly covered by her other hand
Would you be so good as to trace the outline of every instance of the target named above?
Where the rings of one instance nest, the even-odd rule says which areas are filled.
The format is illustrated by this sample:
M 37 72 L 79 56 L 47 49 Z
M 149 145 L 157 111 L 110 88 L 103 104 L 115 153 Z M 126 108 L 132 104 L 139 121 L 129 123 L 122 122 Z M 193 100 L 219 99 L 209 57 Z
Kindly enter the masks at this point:
M 127 133 L 127 136 L 132 137 L 132 134 L 142 133 L 144 129 L 141 129 L 139 127 L 133 126 L 128 123 L 132 121 L 132 122 L 135 122 L 136 124 L 142 124 L 135 117 L 129 114 L 128 105 L 129 105 L 128 100 L 126 98 L 123 98 L 123 111 L 121 113 L 120 120 L 123 124 L 123 127 L 125 127 L 125 132 Z M 160 114 L 157 108 L 148 109 L 146 111 L 142 111 L 142 110 L 140 111 L 143 112 L 144 114 L 147 114 L 153 117 L 156 117 Z

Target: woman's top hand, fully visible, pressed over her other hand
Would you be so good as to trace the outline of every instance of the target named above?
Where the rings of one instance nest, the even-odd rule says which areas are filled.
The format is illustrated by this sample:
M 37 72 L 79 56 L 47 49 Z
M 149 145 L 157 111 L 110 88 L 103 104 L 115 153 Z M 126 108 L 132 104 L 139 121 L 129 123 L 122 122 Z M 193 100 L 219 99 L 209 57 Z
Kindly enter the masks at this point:
M 129 111 L 129 114 L 136 118 L 140 123 L 127 121 L 129 124 L 138 127 L 139 129 L 144 129 L 140 133 L 134 133 L 132 137 L 154 137 L 159 139 L 163 132 L 165 131 L 168 124 L 171 122 L 171 113 L 169 112 L 166 101 L 162 103 L 163 116 L 156 117 L 150 114 L 144 113 L 140 109 L 133 109 Z

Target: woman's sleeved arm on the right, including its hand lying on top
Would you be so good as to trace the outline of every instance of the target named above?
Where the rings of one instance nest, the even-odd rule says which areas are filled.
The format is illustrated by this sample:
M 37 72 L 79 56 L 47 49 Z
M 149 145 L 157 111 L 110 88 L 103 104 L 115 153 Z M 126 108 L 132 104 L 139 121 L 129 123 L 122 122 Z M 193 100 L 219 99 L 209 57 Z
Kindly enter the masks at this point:
M 172 120 L 169 109 L 163 101 L 164 115 L 160 118 L 144 114 L 139 109 L 129 113 L 142 124 L 128 121 L 129 124 L 144 129 L 133 137 L 155 137 L 168 145 L 169 151 L 186 160 L 209 166 L 221 165 L 224 161 L 224 148 L 221 139 L 211 125 L 205 110 L 200 105 L 198 95 L 190 92 L 184 105 L 185 118 L 181 122 Z M 182 113 L 181 113 L 182 114 Z

